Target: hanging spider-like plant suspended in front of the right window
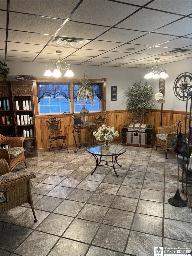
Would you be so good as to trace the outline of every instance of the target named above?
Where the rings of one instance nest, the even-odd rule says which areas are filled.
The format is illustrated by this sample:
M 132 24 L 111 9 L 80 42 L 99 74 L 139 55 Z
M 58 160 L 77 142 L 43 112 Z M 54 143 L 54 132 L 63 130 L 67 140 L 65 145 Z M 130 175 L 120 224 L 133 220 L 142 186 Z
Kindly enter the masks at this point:
M 95 102 L 95 92 L 93 86 L 91 85 L 92 80 L 87 78 L 86 69 L 84 70 L 84 78 L 79 79 L 78 89 L 76 91 L 77 101 L 79 104 L 84 102 L 90 102 L 91 105 L 94 105 Z

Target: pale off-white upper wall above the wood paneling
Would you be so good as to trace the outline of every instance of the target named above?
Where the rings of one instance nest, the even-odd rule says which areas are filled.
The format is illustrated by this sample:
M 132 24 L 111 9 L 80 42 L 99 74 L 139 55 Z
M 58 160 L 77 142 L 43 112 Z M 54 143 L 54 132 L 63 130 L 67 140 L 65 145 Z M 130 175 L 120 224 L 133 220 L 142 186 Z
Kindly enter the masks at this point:
M 22 62 L 22 61 L 5 61 L 10 67 L 9 80 L 15 80 L 14 75 L 33 75 L 43 77 L 46 70 L 45 63 Z M 165 104 L 163 109 L 185 111 L 186 101 L 176 98 L 173 85 L 178 75 L 184 72 L 192 72 L 191 59 L 181 60 L 170 64 L 164 64 L 167 68 L 169 78 L 165 82 Z M 71 65 L 71 69 L 75 73 L 74 78 L 83 78 L 84 65 Z M 123 100 L 124 91 L 131 88 L 132 84 L 138 80 L 145 82 L 143 78 L 146 70 L 143 68 L 126 68 L 126 67 L 105 67 L 105 66 L 89 66 L 86 65 L 86 73 L 88 78 L 106 78 L 106 110 L 122 110 L 126 109 L 126 102 Z M 64 73 L 64 72 L 63 72 Z M 154 94 L 159 90 L 159 79 L 150 79 L 148 84 L 153 85 Z M 117 101 L 111 101 L 111 86 L 117 86 Z M 160 109 L 161 104 L 156 104 L 153 108 Z

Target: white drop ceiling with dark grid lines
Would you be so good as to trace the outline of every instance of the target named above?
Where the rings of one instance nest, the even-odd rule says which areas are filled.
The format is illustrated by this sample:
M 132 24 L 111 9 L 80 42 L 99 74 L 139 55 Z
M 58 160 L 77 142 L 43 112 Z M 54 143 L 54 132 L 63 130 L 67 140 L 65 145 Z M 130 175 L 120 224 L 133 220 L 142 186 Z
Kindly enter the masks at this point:
M 77 65 L 147 68 L 155 58 L 192 58 L 191 0 L 1 0 L 0 9 L 1 61 L 51 63 L 56 50 Z

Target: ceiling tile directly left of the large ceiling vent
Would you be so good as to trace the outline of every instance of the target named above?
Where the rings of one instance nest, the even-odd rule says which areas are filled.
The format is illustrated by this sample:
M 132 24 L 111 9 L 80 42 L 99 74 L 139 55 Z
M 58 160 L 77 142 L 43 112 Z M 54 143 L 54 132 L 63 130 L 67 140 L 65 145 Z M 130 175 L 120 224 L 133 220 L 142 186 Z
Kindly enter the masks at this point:
M 52 36 L 9 30 L 8 41 L 45 45 Z

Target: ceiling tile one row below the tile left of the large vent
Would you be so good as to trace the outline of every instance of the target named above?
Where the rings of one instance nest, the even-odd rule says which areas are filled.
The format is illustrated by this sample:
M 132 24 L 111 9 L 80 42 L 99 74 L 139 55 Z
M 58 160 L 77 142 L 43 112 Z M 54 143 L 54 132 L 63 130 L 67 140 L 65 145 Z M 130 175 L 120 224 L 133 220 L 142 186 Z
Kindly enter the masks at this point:
M 29 52 L 39 52 L 43 48 L 43 45 L 36 45 L 36 44 L 22 44 L 22 43 L 7 43 L 8 50 L 15 50 L 15 51 L 29 51 Z

